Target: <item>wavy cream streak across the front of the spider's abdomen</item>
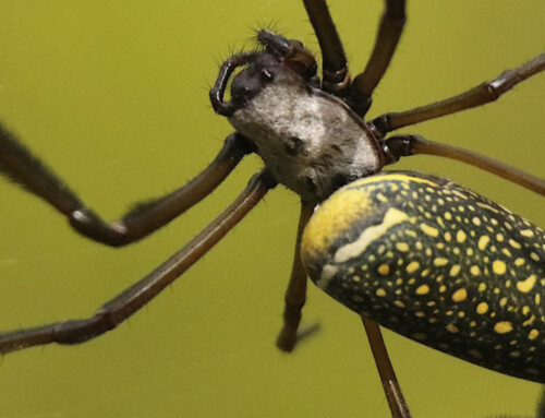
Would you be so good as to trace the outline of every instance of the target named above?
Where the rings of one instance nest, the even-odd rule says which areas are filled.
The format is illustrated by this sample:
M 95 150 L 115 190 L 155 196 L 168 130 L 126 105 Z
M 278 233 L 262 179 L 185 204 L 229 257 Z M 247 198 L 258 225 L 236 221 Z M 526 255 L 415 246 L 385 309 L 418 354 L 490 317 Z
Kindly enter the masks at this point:
M 311 220 L 314 219 L 315 216 L 316 215 L 314 215 Z M 362 254 L 371 243 L 384 236 L 388 229 L 407 220 L 409 220 L 409 216 L 404 212 L 390 207 L 384 215 L 382 224 L 370 226 L 354 242 L 347 243 L 346 246 L 339 248 L 335 253 L 335 261 L 337 263 L 343 263 L 350 259 L 356 258 Z

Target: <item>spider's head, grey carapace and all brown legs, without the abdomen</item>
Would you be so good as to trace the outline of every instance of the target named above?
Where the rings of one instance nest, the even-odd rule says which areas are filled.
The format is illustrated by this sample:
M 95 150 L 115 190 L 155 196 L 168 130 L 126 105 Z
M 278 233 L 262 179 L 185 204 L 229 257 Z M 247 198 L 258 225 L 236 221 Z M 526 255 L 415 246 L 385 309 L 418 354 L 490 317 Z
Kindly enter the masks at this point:
M 214 190 L 245 154 L 257 153 L 265 169 L 213 224 L 165 264 L 104 304 L 89 319 L 66 321 L 0 334 L 0 351 L 8 353 L 49 343 L 75 344 L 114 329 L 195 263 L 255 204 L 281 183 L 301 196 L 298 249 L 286 297 L 284 327 L 278 346 L 291 350 L 296 343 L 305 300 L 306 272 L 299 244 L 314 208 L 340 187 L 379 172 L 385 166 L 413 154 L 433 154 L 498 174 L 545 194 L 545 183 L 486 156 L 441 145 L 416 135 L 387 134 L 399 128 L 469 109 L 495 100 L 502 93 L 545 69 L 545 55 L 500 74 L 458 96 L 416 109 L 387 114 L 372 121 L 364 116 L 402 33 L 404 1 L 386 1 L 375 49 L 365 70 L 351 79 L 342 44 L 322 0 L 304 2 L 322 48 L 323 74 L 317 76 L 313 55 L 298 40 L 261 31 L 263 50 L 231 57 L 221 67 L 210 91 L 214 109 L 229 118 L 237 132 L 226 140 L 215 162 L 185 187 L 140 205 L 120 220 L 105 223 L 35 157 L 7 129 L 0 130 L 0 171 L 64 214 L 80 234 L 120 247 L 144 238 L 179 216 Z M 233 71 L 231 98 L 223 94 Z M 365 326 L 376 351 L 384 384 L 395 416 L 408 416 L 395 377 L 385 356 L 378 329 Z

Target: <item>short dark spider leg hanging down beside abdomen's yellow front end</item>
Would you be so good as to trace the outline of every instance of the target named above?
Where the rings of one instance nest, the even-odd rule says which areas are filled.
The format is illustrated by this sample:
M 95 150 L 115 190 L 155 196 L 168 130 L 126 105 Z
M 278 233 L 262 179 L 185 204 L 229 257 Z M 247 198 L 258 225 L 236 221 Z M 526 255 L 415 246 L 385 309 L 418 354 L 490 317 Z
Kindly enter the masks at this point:
M 284 297 L 283 327 L 276 342 L 277 347 L 282 351 L 291 351 L 298 342 L 298 329 L 302 318 L 301 310 L 306 300 L 306 270 L 301 260 L 301 237 L 313 212 L 314 204 L 301 202 L 293 266 Z

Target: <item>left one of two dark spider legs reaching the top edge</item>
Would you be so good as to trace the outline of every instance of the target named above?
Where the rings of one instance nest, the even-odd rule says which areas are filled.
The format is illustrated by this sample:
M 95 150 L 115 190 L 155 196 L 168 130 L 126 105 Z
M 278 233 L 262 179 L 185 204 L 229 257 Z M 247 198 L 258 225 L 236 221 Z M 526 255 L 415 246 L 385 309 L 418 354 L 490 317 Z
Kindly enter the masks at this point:
M 323 88 L 336 96 L 347 95 L 350 73 L 347 57 L 325 0 L 303 0 L 322 49 Z

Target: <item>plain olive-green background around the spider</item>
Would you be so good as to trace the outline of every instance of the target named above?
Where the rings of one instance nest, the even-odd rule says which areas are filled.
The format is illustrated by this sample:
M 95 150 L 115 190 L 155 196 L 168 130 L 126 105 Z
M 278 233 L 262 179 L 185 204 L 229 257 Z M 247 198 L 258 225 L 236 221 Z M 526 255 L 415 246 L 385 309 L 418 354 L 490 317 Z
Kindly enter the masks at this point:
M 382 1 L 331 0 L 355 73 Z M 207 89 L 218 62 L 274 24 L 318 52 L 303 5 L 277 1 L 0 0 L 0 119 L 108 219 L 170 191 L 231 131 Z M 545 46 L 545 3 L 411 1 L 371 116 L 459 93 Z M 498 103 L 407 132 L 462 145 L 545 177 L 545 74 Z M 450 177 L 545 226 L 545 202 L 439 158 L 400 165 Z M 0 329 L 89 315 L 183 246 L 244 187 L 247 158 L 198 208 L 117 250 L 73 234 L 41 201 L 0 181 Z M 311 287 L 320 332 L 291 355 L 281 322 L 298 198 L 278 188 L 129 323 L 75 347 L 5 356 L 0 416 L 387 417 L 359 318 Z M 528 416 L 540 385 L 386 333 L 414 417 Z

